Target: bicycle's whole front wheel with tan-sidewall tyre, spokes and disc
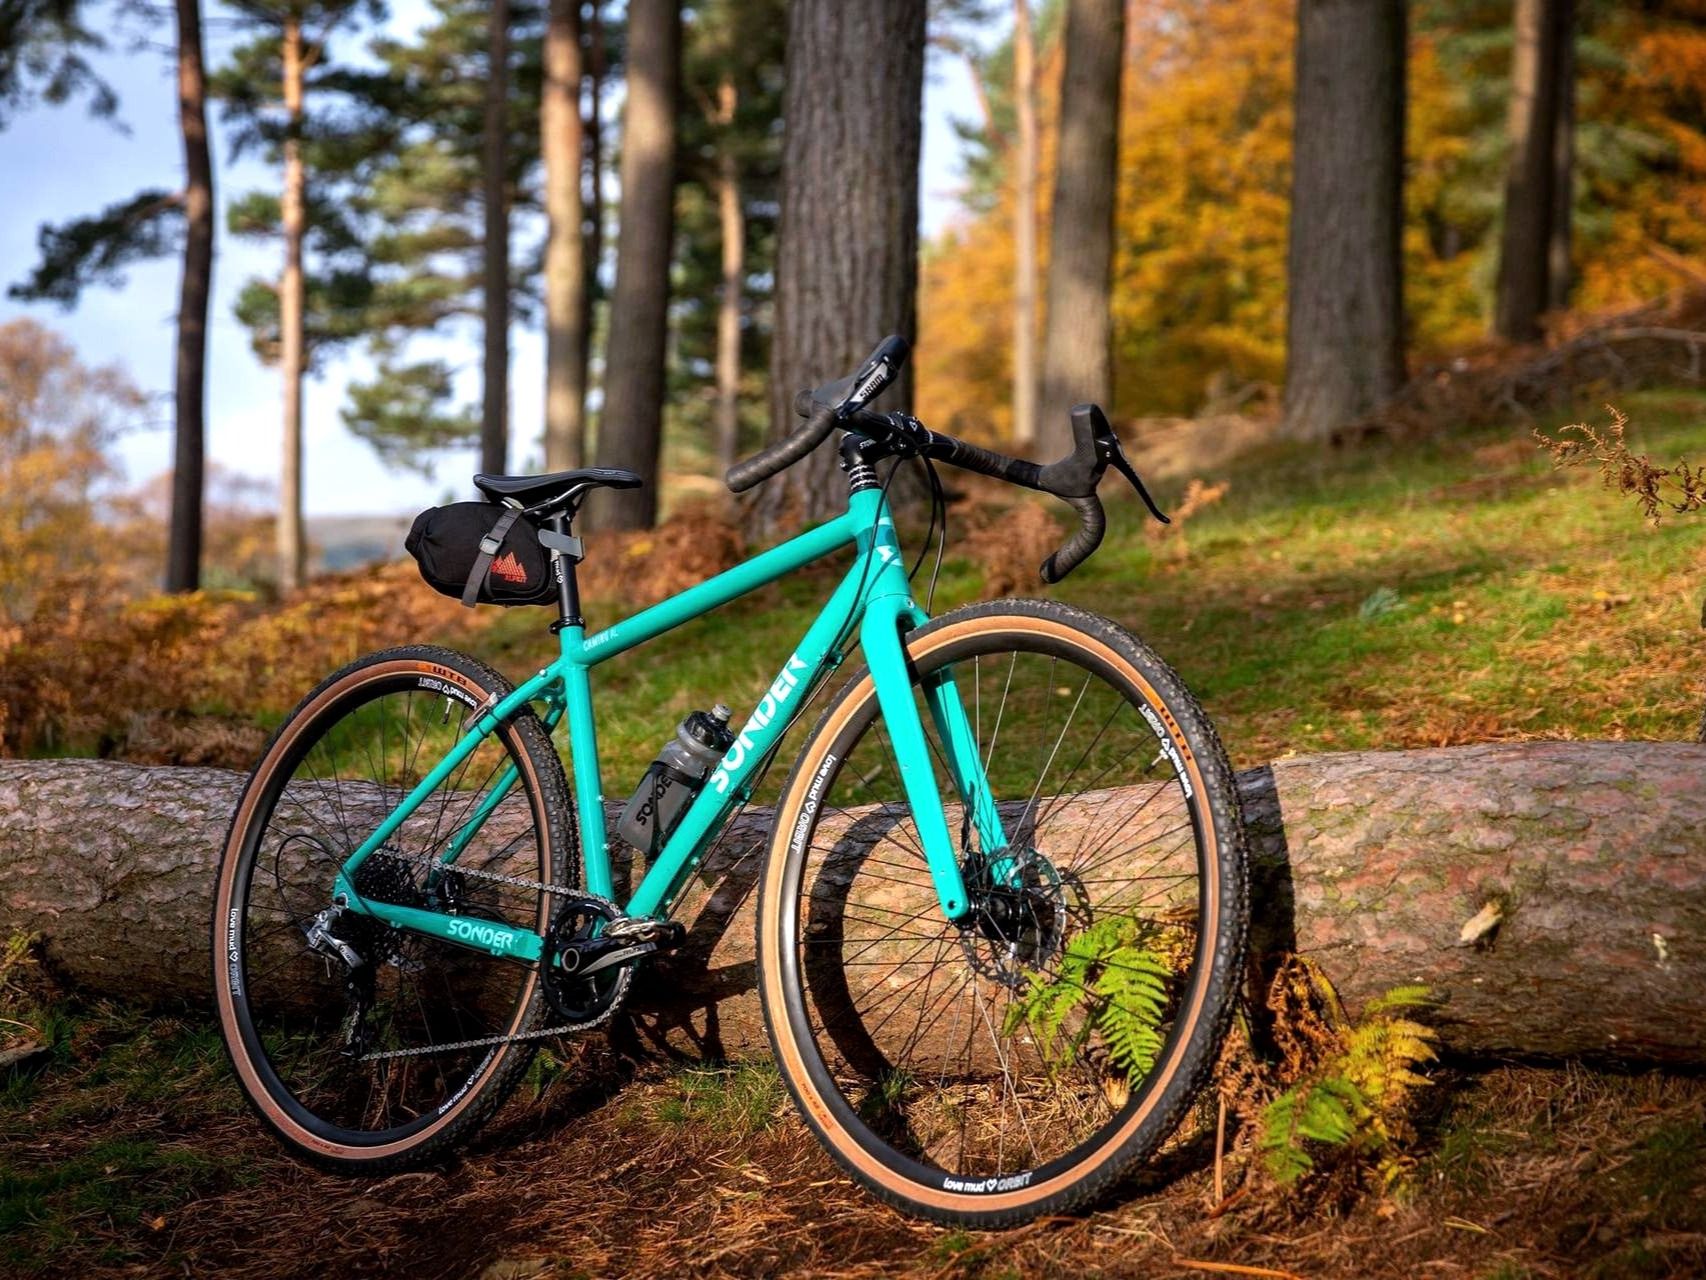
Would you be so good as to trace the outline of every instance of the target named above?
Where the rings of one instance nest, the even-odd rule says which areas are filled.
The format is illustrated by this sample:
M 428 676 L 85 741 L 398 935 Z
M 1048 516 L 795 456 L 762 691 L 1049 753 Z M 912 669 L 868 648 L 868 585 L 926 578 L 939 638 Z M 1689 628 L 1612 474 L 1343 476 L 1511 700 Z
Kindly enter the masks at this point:
M 942 915 L 860 672 L 776 809 L 759 990 L 783 1079 L 843 1167 L 909 1212 L 1001 1227 L 1097 1196 L 1204 1085 L 1242 969 L 1244 828 L 1208 717 L 1105 618 L 1001 601 L 906 650 L 972 911 Z M 943 696 L 995 836 L 950 780 Z

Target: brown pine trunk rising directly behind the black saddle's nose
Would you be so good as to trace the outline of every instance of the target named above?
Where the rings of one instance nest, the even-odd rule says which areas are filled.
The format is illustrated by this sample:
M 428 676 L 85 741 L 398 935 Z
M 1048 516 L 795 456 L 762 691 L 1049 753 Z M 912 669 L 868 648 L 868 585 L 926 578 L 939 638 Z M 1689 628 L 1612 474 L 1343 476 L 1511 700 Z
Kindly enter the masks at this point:
M 599 466 L 645 478 L 640 488 L 592 495 L 601 529 L 657 522 L 664 437 L 664 357 L 676 203 L 676 96 L 681 79 L 679 0 L 628 5 L 628 104 L 623 109 L 621 225 L 599 420 Z

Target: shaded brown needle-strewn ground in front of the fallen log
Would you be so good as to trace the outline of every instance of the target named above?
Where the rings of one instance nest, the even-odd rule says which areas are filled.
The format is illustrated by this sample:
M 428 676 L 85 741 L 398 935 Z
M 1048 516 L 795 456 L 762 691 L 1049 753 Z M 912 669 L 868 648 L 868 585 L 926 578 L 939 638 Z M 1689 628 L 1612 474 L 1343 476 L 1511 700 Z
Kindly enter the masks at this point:
M 0 1092 L 0 1275 L 1307 1277 L 1706 1273 L 1706 1080 L 1442 1070 L 1404 1181 L 1215 1215 L 1187 1145 L 1100 1212 L 945 1231 L 853 1186 L 768 1065 L 536 1070 L 454 1164 L 377 1183 L 292 1164 L 200 1019 L 60 1005 Z M 1204 1138 L 1211 1137 L 1204 1130 Z M 1228 1186 L 1242 1176 L 1230 1157 Z

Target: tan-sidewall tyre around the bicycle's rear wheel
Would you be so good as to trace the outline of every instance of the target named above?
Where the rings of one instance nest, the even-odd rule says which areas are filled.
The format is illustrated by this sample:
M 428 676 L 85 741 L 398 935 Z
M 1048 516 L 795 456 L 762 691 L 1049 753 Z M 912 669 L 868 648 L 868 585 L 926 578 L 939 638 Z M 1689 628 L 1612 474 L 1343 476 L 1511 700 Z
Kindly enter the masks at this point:
M 261 1073 L 252 1062 L 249 1039 L 242 1031 L 241 1017 L 237 1014 L 237 997 L 232 992 L 230 971 L 234 961 L 230 957 L 230 923 L 234 913 L 242 910 L 241 905 L 232 903 L 232 894 L 237 882 L 237 872 L 242 865 L 242 848 L 247 841 L 256 807 L 264 799 L 273 771 L 281 761 L 288 759 L 292 749 L 297 742 L 300 742 L 305 732 L 316 727 L 317 717 L 328 707 L 350 696 L 365 684 L 389 681 L 399 676 L 418 676 L 454 683 L 457 688 L 469 693 L 476 705 L 486 705 L 495 693 L 502 696 L 508 691 L 508 683 L 496 672 L 490 672 L 495 679 L 486 679 L 483 683 L 469 672 L 461 671 L 459 666 L 462 664 L 483 667 L 483 664 L 459 654 L 450 654 L 449 650 L 444 650 L 438 660 L 433 657 L 404 657 L 401 654 L 397 657 L 389 657 L 387 654 L 375 654 L 367 659 L 360 659 L 324 681 L 317 689 L 304 698 L 302 705 L 292 712 L 290 719 L 285 720 L 285 724 L 273 736 L 273 741 L 268 744 L 266 753 L 261 756 L 261 763 L 256 765 L 254 773 L 249 777 L 249 783 L 244 787 L 242 799 L 237 802 L 237 812 L 232 817 L 230 829 L 225 836 L 225 848 L 220 857 L 218 882 L 213 898 L 213 1004 L 218 1012 L 220 1034 L 225 1039 L 232 1067 L 237 1072 L 237 1082 L 242 1085 L 244 1096 L 249 1099 L 249 1104 L 256 1109 L 261 1120 L 264 1120 L 287 1143 L 293 1145 L 310 1159 L 345 1169 L 362 1164 L 396 1164 L 399 1157 L 406 1157 L 409 1152 L 435 1145 L 445 1130 L 456 1126 L 459 1120 L 462 1120 L 473 1108 L 478 1108 L 483 1101 L 488 1106 L 495 1106 L 490 1099 L 483 1099 L 483 1096 L 493 1082 L 503 1075 L 505 1067 L 514 1063 L 517 1053 L 531 1056 L 534 1046 L 527 1043 L 498 1046 L 498 1051 L 485 1062 L 479 1075 L 474 1077 L 474 1080 L 461 1092 L 456 1103 L 437 1116 L 432 1125 L 411 1132 L 406 1138 L 372 1145 L 339 1143 L 305 1128 L 295 1116 L 278 1104 L 271 1089 L 268 1089 L 261 1079 Z M 491 684 L 491 688 L 485 688 L 483 684 Z M 549 860 L 554 838 L 544 802 L 546 788 L 541 783 L 541 777 L 531 753 L 520 741 L 519 720 L 520 717 L 503 725 L 498 732 L 503 744 L 512 753 L 510 758 L 517 761 L 517 768 L 522 771 L 522 785 L 525 787 L 529 804 L 532 806 L 534 823 L 546 836 L 546 865 L 539 867 L 539 874 L 543 879 L 551 879 Z M 539 928 L 544 930 L 549 923 L 549 899 L 543 899 L 541 908 L 543 915 Z M 515 1019 L 505 1029 L 505 1034 L 517 1034 L 524 1031 L 532 1019 L 537 1004 L 537 975 L 529 973 L 527 983 L 519 995 Z

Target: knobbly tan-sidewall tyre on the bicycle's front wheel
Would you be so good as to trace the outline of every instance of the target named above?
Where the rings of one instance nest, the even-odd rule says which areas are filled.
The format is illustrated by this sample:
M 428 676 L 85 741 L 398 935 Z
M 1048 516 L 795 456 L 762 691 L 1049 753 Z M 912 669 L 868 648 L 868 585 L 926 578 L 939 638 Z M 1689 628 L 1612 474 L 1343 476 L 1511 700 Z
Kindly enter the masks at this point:
M 812 1070 L 807 1067 L 807 1053 L 815 1056 L 815 1051 L 802 1050 L 793 1022 L 786 1012 L 788 992 L 785 988 L 783 956 L 785 932 L 788 930 L 788 925 L 785 918 L 786 913 L 781 906 L 788 901 L 786 881 L 797 860 L 795 841 L 810 828 L 810 823 L 802 823 L 800 819 L 802 804 L 805 802 L 812 782 L 824 768 L 824 756 L 831 746 L 860 713 L 867 700 L 873 698 L 873 686 L 868 672 L 856 676 L 843 695 L 836 698 L 829 710 L 824 712 L 822 720 L 800 753 L 800 759 L 797 761 L 776 806 L 776 823 L 771 831 L 769 857 L 764 869 L 759 899 L 757 956 L 759 993 L 764 1002 L 764 1019 L 781 1075 L 788 1082 L 807 1123 L 817 1132 L 822 1142 L 829 1147 L 831 1154 L 834 1154 L 834 1157 L 850 1172 L 879 1195 L 884 1195 L 892 1203 L 899 1203 L 914 1212 L 923 1212 L 938 1220 L 962 1222 L 967 1225 L 1017 1222 L 1041 1212 L 1049 1201 L 1056 1201 L 1063 1196 L 1073 1201 L 1094 1196 L 1095 1190 L 1105 1186 L 1124 1167 L 1128 1167 L 1133 1159 L 1143 1154 L 1131 1152 L 1129 1147 L 1134 1135 L 1138 1135 L 1145 1123 L 1150 1121 L 1157 1108 L 1169 1104 L 1170 1109 L 1179 1109 L 1179 1103 L 1174 1097 L 1177 1091 L 1172 1085 L 1175 1084 L 1175 1075 L 1181 1072 L 1184 1063 L 1192 1056 L 1201 1056 L 1201 1050 L 1196 1046 L 1198 1036 L 1194 1027 L 1201 1024 L 1204 1002 L 1210 997 L 1210 988 L 1216 980 L 1221 963 L 1221 896 L 1227 886 L 1221 882 L 1220 841 L 1230 836 L 1237 845 L 1240 858 L 1244 852 L 1242 823 L 1239 821 L 1235 809 L 1237 792 L 1232 788 L 1230 768 L 1225 765 L 1218 741 L 1213 741 L 1211 729 L 1210 737 L 1213 751 L 1220 756 L 1213 766 L 1218 783 L 1215 788 L 1208 787 L 1198 753 L 1192 749 L 1167 703 L 1160 698 L 1153 681 L 1150 681 L 1145 672 L 1114 645 L 1083 630 L 1085 621 L 1094 621 L 1100 626 L 1112 626 L 1111 623 L 1053 601 L 1041 601 L 1030 608 L 1025 606 L 1027 602 L 1024 601 L 1007 601 L 1001 606 L 974 606 L 972 609 L 947 614 L 931 623 L 928 628 L 909 637 L 908 654 L 914 662 L 923 666 L 925 659 L 942 647 L 960 642 L 969 635 L 981 635 L 988 631 L 1070 642 L 1094 654 L 1094 657 L 1111 666 L 1123 678 L 1128 678 L 1133 686 L 1143 693 L 1148 705 L 1160 713 L 1163 725 L 1174 737 L 1181 763 L 1187 770 L 1196 795 L 1210 800 L 1221 792 L 1230 792 L 1232 795 L 1232 833 L 1216 829 L 1223 824 L 1225 816 L 1220 814 L 1215 806 L 1204 804 L 1206 821 L 1201 824 L 1201 831 L 1206 840 L 1206 852 L 1203 857 L 1203 903 L 1204 920 L 1208 922 L 1208 928 L 1215 932 L 1215 937 L 1204 937 L 1204 949 L 1201 954 L 1208 959 L 1208 963 L 1196 966 L 1192 988 L 1186 1004 L 1184 1017 L 1189 1019 L 1186 1026 L 1192 1027 L 1192 1031 L 1169 1041 L 1169 1056 L 1157 1067 L 1157 1073 L 1150 1077 L 1153 1084 L 1146 1084 L 1143 1099 L 1133 1109 L 1133 1114 L 1128 1116 L 1117 1130 L 1104 1137 L 1092 1152 L 1092 1159 L 1082 1164 L 1061 1171 L 1046 1181 L 1030 1183 L 1018 1190 L 967 1195 L 921 1184 L 885 1166 L 841 1123 L 836 1108 L 831 1106 L 831 1101 L 819 1089 Z M 1041 609 L 1037 606 L 1041 606 Z M 1051 616 L 1042 616 L 1044 609 Z M 960 620 L 960 614 L 971 616 Z M 1136 642 L 1133 637 L 1126 638 L 1141 647 L 1141 642 Z M 1155 662 L 1157 666 L 1162 666 L 1158 659 L 1155 659 Z M 1184 689 L 1182 683 L 1179 684 L 1179 689 Z M 1189 695 L 1186 693 L 1184 696 L 1187 698 Z M 1199 712 L 1196 713 L 1201 715 Z M 1206 717 L 1201 719 L 1201 724 L 1208 725 Z M 1239 865 L 1242 869 L 1242 862 Z M 1242 913 L 1244 886 L 1240 882 L 1233 887 L 1239 893 L 1237 905 Z M 1242 942 L 1244 939 L 1240 928 L 1233 947 L 1233 951 L 1237 951 L 1235 964 L 1242 963 Z M 1210 1010 L 1210 1014 L 1220 1024 L 1213 1036 L 1213 1048 L 1218 1048 L 1220 1036 L 1223 1034 L 1223 1012 Z M 1192 1055 L 1192 1050 L 1198 1050 L 1196 1055 Z M 1201 1067 L 1196 1068 L 1196 1073 L 1201 1073 Z M 1192 1084 L 1192 1092 L 1194 1089 L 1196 1085 Z M 1165 1130 L 1174 1128 L 1174 1125 L 1175 1120 L 1165 1125 Z M 1155 1138 L 1155 1143 L 1165 1137 L 1165 1130 Z M 1080 1190 L 1083 1190 L 1083 1195 L 1073 1195 Z

